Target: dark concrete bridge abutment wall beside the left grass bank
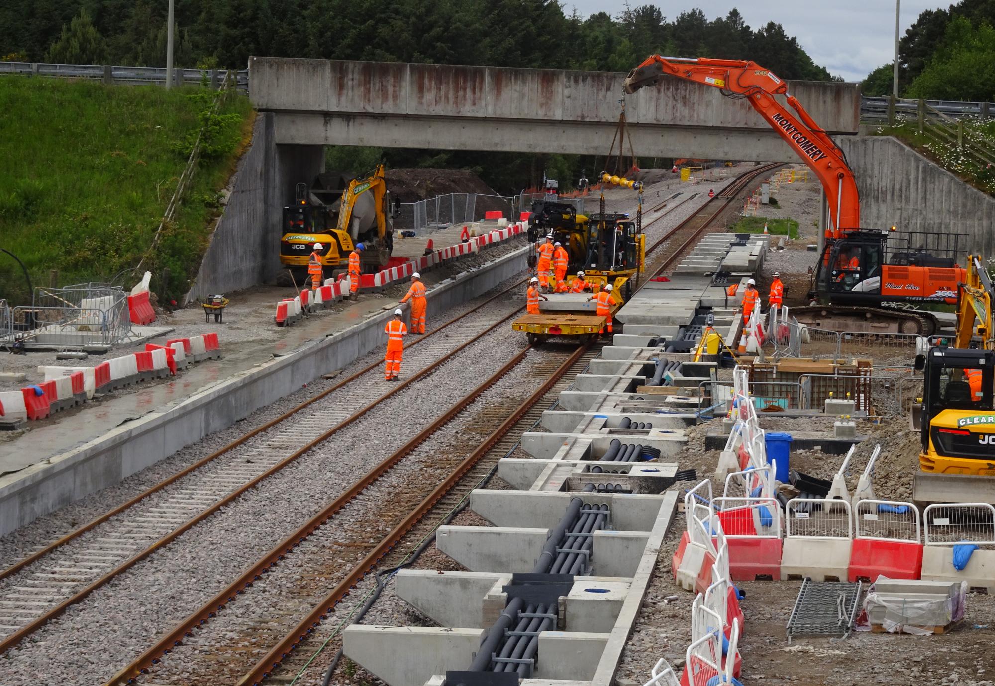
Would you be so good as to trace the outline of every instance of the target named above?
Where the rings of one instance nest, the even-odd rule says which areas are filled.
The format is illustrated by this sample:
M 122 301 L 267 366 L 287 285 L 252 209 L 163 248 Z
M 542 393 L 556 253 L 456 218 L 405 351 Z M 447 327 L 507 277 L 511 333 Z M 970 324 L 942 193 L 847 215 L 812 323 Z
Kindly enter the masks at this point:
M 274 115 L 261 113 L 252 145 L 229 183 L 231 195 L 218 220 L 186 302 L 263 283 L 280 269 L 280 227 L 294 186 L 324 170 L 319 145 L 277 145 Z

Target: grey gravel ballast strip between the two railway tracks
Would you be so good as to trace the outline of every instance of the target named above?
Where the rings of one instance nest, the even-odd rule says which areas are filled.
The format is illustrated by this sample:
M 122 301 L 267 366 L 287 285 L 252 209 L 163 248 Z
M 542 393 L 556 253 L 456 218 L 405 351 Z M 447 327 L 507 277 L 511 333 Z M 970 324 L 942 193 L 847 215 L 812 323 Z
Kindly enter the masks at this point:
M 40 629 L 0 661 L 0 683 L 34 683 L 67 673 L 73 677 L 65 683 L 106 679 L 159 632 L 223 589 L 259 551 L 278 543 L 347 488 L 357 473 L 400 447 L 413 431 L 493 374 L 522 345 L 502 327 L 451 358 L 431 377 L 268 479 L 266 488 L 244 494 Z M 405 421 L 384 420 L 389 417 Z M 370 443 L 371 434 L 379 438 L 375 444 Z M 137 617 L 136 603 L 141 607 Z

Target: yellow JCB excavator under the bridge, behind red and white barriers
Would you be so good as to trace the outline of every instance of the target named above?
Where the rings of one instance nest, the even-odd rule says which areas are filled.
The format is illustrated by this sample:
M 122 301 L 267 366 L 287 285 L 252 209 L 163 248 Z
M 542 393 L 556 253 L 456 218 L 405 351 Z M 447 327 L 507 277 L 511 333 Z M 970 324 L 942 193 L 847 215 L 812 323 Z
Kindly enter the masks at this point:
M 352 179 L 331 205 L 312 204 L 310 195 L 306 184 L 300 183 L 294 205 L 284 208 L 280 261 L 285 267 L 306 269 L 314 244 L 321 244 L 317 251 L 321 264 L 345 269 L 357 243 L 363 244 L 364 272 L 387 266 L 400 199 L 391 203 L 382 164 L 366 177 Z

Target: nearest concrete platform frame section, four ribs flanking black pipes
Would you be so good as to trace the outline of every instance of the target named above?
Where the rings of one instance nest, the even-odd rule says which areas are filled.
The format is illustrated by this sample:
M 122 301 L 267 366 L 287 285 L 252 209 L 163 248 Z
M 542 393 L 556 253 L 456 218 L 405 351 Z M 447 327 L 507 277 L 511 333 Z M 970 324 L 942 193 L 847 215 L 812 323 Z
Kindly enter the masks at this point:
M 346 657 L 391 686 L 441 684 L 466 670 L 513 592 L 512 574 L 530 569 L 549 528 L 578 494 L 474 491 L 471 508 L 493 527 L 442 527 L 439 549 L 469 572 L 402 570 L 397 594 L 439 627 L 366 626 L 342 632 Z M 591 574 L 566 581 L 555 622 L 538 633 L 531 675 L 521 683 L 609 686 L 646 594 L 678 493 L 580 494 L 607 504 L 610 526 L 592 537 Z

